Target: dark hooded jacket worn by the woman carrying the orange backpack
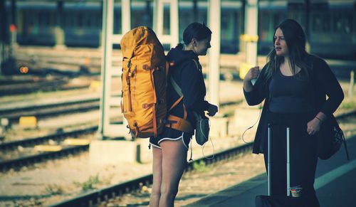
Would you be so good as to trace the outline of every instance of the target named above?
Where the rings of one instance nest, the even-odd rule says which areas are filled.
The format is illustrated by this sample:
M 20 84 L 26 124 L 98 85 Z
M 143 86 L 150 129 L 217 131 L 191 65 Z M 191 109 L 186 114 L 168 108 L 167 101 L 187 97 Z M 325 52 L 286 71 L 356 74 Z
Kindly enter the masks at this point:
M 198 63 L 198 68 L 193 59 Z M 199 58 L 193 51 L 182 51 L 177 48 L 172 48 L 167 54 L 167 60 L 174 62 L 174 66 L 169 68 L 169 76 L 172 76 L 183 93 L 183 101 L 179 102 L 179 105 L 174 107 L 169 114 L 184 117 L 184 103 L 187 109 L 187 120 L 192 124 L 192 127 L 195 127 L 195 117 L 192 112 L 194 111 L 204 115 L 204 111 L 208 109 L 208 102 L 204 100 L 206 87 L 203 73 L 201 72 L 201 65 L 199 64 Z M 180 96 L 174 90 L 170 80 L 168 80 L 167 83 L 167 108 L 169 109 Z M 164 132 L 159 136 L 179 137 L 181 135 L 182 132 L 165 128 Z

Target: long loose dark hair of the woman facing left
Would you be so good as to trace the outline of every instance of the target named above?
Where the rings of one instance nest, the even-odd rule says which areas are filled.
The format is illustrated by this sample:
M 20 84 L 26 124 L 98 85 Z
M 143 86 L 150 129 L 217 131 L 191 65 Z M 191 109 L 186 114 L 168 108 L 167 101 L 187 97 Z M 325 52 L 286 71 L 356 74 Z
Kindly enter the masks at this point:
M 300 24 L 293 19 L 286 19 L 282 21 L 276 27 L 273 33 L 273 46 L 275 43 L 274 34 L 276 33 L 278 28 L 281 28 L 281 31 L 283 32 L 283 36 L 288 46 L 290 66 L 293 70 L 293 74 L 295 74 L 295 65 L 297 65 L 303 70 L 303 72 L 307 75 L 308 78 L 310 73 L 310 67 L 305 62 L 305 58 L 307 57 L 308 53 L 305 51 L 306 38 L 302 26 L 300 26 Z M 268 54 L 267 78 L 272 77 L 272 75 L 276 72 L 277 68 L 279 68 L 281 63 L 283 63 L 283 60 L 283 57 L 278 57 L 276 55 L 276 50 L 273 48 L 273 50 Z

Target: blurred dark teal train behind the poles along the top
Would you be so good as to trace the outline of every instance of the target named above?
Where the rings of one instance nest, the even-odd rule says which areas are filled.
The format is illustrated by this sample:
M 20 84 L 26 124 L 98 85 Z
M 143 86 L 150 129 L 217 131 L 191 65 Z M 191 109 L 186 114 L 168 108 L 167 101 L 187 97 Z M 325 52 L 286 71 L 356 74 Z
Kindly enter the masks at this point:
M 244 2 L 221 1 L 221 53 L 238 53 L 243 44 Z M 356 1 L 310 0 L 259 1 L 258 53 L 266 55 L 273 46 L 274 28 L 285 18 L 299 21 L 308 34 L 310 52 L 323 58 L 356 59 Z M 315 3 L 316 2 L 316 3 Z M 6 7 L 11 8 L 10 2 Z M 179 34 L 193 21 L 207 22 L 206 1 L 179 1 Z M 114 33 L 121 33 L 120 2 L 115 3 Z M 306 15 L 309 11 L 309 17 Z M 132 28 L 152 27 L 152 1 L 132 0 Z M 17 43 L 19 45 L 54 46 L 57 21 L 55 1 L 16 1 Z M 102 24 L 100 1 L 64 1 L 61 27 L 65 45 L 69 47 L 98 47 Z M 164 7 L 164 19 L 169 8 Z M 169 21 L 164 21 L 169 33 Z

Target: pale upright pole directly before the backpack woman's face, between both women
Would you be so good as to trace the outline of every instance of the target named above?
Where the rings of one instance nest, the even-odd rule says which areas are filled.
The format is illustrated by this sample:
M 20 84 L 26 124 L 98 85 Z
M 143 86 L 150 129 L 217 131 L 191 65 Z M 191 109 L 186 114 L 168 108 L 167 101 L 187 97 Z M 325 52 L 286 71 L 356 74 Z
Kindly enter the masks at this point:
M 209 49 L 208 97 L 209 102 L 219 107 L 219 80 L 220 80 L 220 26 L 221 1 L 209 0 L 209 28 L 211 35 L 211 48 Z

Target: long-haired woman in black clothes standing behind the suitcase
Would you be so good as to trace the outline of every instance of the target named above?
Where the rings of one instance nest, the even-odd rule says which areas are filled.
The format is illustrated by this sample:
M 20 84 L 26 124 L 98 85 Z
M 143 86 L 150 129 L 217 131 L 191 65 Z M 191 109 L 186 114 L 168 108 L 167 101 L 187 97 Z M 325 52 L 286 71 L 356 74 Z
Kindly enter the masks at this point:
M 317 135 L 324 120 L 333 115 L 343 100 L 340 84 L 321 58 L 305 51 L 305 34 L 300 24 L 287 19 L 276 27 L 268 63 L 248 70 L 244 95 L 248 105 L 263 100 L 253 153 L 267 156 L 267 124 L 271 132 L 271 191 L 286 195 L 286 126 L 290 127 L 290 186 L 303 188 L 305 206 L 318 207 L 313 188 L 318 162 Z M 251 80 L 256 79 L 252 85 Z M 328 100 L 325 100 L 328 95 Z

